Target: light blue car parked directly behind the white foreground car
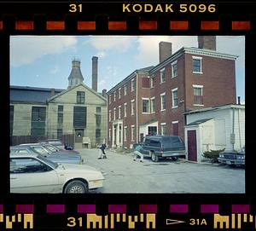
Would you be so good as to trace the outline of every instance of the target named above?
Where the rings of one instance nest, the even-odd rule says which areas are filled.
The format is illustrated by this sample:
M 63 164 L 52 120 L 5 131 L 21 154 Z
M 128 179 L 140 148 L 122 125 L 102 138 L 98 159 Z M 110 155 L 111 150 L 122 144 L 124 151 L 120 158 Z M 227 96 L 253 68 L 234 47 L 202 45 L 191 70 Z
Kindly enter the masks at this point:
M 79 154 L 63 154 L 63 153 L 49 153 L 47 150 L 39 145 L 23 144 L 10 147 L 10 153 L 39 153 L 45 158 L 61 164 L 76 164 L 81 165 L 84 159 Z

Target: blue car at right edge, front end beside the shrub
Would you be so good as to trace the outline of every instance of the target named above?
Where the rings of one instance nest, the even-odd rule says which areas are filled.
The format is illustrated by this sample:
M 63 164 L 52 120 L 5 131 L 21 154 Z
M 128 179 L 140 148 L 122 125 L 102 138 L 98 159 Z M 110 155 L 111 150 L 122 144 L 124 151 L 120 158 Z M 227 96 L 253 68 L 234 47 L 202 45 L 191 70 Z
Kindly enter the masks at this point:
M 245 165 L 245 149 L 241 152 L 224 151 L 218 154 L 218 162 L 230 166 Z

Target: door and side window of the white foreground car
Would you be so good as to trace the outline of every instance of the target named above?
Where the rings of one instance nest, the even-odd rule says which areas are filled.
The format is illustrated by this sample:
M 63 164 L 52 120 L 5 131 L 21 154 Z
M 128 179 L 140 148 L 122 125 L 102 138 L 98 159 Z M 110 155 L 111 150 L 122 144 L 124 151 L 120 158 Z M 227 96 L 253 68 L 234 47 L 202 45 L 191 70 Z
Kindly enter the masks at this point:
M 11 193 L 61 193 L 56 171 L 35 158 L 10 159 Z

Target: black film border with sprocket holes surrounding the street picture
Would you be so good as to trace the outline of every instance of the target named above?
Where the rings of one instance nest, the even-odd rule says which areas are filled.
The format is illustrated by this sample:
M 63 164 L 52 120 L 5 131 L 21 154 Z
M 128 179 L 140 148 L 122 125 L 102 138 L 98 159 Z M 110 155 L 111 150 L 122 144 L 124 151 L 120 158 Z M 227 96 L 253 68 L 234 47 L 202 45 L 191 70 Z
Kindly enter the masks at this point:
M 218 13 L 216 14 L 191 13 L 185 15 L 178 13 L 123 13 L 120 6 L 125 2 L 118 1 L 81 3 L 86 6 L 83 14 L 68 13 L 69 2 L 36 3 L 28 1 L 16 3 L 15 7 L 11 5 L 11 2 L 0 2 L 3 6 L 3 9 L 0 10 L 1 76 L 9 76 L 9 37 L 12 35 L 244 35 L 246 37 L 246 145 L 249 152 L 253 149 L 255 138 L 252 131 L 253 127 L 250 125 L 253 124 L 253 101 L 251 98 L 253 81 L 250 77 L 253 74 L 252 57 L 256 41 L 255 3 L 214 1 L 211 3 L 218 6 Z M 137 2 L 132 3 L 136 4 Z M 140 3 L 143 4 L 144 2 Z M 195 2 L 186 1 L 185 3 L 192 4 Z M 205 2 L 200 1 L 195 4 L 198 3 Z M 38 10 L 38 5 L 40 10 Z M 60 14 L 55 12 L 55 9 L 58 9 Z M 6 78 L 1 78 L 1 86 L 3 86 L 4 111 L 9 112 L 9 81 L 6 81 Z M 9 121 L 8 113 L 5 119 Z M 6 136 L 8 130 L 9 124 L 3 124 L 1 138 L 5 144 L 9 144 L 9 136 Z M 4 147 L 4 150 L 5 153 L 8 153 L 9 146 Z M 253 151 L 251 152 L 253 153 Z M 125 194 L 125 197 L 123 194 L 89 194 L 83 198 L 80 195 L 17 195 L 9 193 L 9 168 L 3 165 L 3 163 L 9 163 L 9 158 L 2 156 L 1 175 L 3 176 L 4 187 L 1 187 L 0 212 L 3 214 L 3 218 L 0 218 L 3 219 L 3 222 L 1 224 L 0 219 L 0 227 L 9 228 L 7 227 L 7 216 L 15 215 L 15 221 L 17 221 L 19 219 L 18 214 L 21 217 L 20 222 L 13 223 L 12 228 L 29 229 L 23 227 L 23 222 L 27 214 L 33 214 L 33 229 L 36 230 L 52 228 L 68 230 L 70 228 L 67 227 L 68 217 L 78 219 L 84 216 L 84 213 L 96 213 L 98 216 L 114 214 L 115 218 L 118 214 L 126 214 L 126 217 L 138 216 L 137 219 L 140 218 L 141 214 L 144 216 L 155 214 L 155 229 L 159 230 L 169 228 L 180 228 L 181 230 L 189 228 L 218 229 L 214 228 L 212 218 L 213 214 L 216 213 L 229 216 L 230 223 L 233 222 L 233 217 L 235 221 L 239 219 L 237 218 L 239 215 L 244 216 L 245 214 L 248 216 L 247 220 L 250 221 L 249 215 L 251 214 L 253 222 L 255 222 L 254 159 L 253 156 L 247 156 L 245 194 L 165 193 Z M 131 217 L 132 219 L 135 217 Z M 185 222 L 183 224 L 177 222 L 177 224 L 169 226 L 166 222 L 167 219 Z M 189 224 L 190 219 L 195 219 L 195 225 Z M 207 225 L 204 224 L 204 219 L 207 221 Z M 82 226 L 77 225 L 74 228 L 82 229 L 86 228 L 86 225 L 83 223 Z M 146 227 L 145 222 L 137 222 L 134 228 L 130 228 L 124 222 L 113 228 L 126 230 L 148 229 L 149 227 Z M 234 228 L 238 228 L 237 223 Z M 241 229 L 253 228 L 256 228 L 256 224 L 253 226 L 250 222 L 248 224 L 242 223 L 241 226 Z

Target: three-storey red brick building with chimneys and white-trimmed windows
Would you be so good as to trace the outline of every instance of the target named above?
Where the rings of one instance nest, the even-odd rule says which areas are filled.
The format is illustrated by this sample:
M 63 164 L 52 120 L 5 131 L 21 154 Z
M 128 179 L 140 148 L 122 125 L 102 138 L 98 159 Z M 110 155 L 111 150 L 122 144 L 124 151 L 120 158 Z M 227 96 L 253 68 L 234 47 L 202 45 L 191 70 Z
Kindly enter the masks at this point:
M 143 136 L 184 138 L 184 113 L 236 104 L 237 56 L 216 51 L 216 37 L 198 37 L 198 48 L 159 44 L 160 63 L 132 72 L 108 91 L 108 146 L 131 148 Z

